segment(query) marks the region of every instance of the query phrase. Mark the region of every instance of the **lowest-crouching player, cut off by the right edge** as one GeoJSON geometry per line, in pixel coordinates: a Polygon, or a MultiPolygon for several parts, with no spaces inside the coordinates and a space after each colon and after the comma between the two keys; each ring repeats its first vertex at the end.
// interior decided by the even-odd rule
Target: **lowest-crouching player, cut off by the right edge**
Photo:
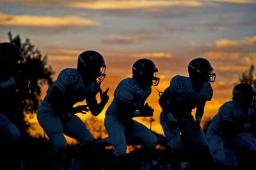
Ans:
{"type": "MultiPolygon", "coordinates": [[[[225,149],[229,148],[235,151],[233,154],[237,152],[250,155],[245,162],[239,162],[237,157],[242,169],[255,169],[255,109],[255,89],[246,83],[234,86],[232,100],[221,105],[207,129],[206,137],[216,166],[230,164],[227,159],[234,155],[227,155],[225,149]]],[[[234,163],[236,165],[237,162],[234,163]]]]}

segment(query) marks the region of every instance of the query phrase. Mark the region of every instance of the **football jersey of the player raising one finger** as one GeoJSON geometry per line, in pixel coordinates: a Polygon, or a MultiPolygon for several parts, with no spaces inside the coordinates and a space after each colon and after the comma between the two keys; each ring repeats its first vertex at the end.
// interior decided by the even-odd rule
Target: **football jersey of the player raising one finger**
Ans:
{"type": "Polygon", "coordinates": [[[58,88],[65,93],[69,99],[70,105],[82,102],[86,97],[95,97],[100,91],[97,82],[91,82],[89,86],[85,86],[82,75],[76,68],[65,68],[60,72],[57,80],[47,90],[47,95],[42,104],[49,102],[49,97],[51,96],[49,94],[54,86],[58,86],[58,88]]]}

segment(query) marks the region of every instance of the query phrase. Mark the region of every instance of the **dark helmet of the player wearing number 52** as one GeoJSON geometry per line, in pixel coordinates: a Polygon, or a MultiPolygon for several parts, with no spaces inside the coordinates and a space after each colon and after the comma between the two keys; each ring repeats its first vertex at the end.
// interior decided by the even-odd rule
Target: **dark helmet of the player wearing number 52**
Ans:
{"type": "Polygon", "coordinates": [[[195,58],[188,65],[189,77],[198,81],[214,82],[216,74],[212,71],[211,63],[205,58],[195,58]]]}

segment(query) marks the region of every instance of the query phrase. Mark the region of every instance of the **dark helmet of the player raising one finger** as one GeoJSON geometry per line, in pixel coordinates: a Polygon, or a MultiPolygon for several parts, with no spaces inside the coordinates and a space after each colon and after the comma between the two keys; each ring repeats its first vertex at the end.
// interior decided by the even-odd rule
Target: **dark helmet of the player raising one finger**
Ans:
{"type": "Polygon", "coordinates": [[[79,54],[77,70],[86,81],[102,82],[106,77],[106,64],[103,56],[94,50],[86,50],[79,54]]]}

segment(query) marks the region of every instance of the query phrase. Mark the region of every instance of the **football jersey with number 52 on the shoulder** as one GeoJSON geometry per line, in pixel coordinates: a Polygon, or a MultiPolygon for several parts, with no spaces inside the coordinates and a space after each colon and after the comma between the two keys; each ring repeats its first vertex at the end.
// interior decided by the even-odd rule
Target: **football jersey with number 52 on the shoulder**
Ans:
{"type": "Polygon", "coordinates": [[[170,111],[180,118],[191,114],[192,109],[202,101],[210,101],[212,98],[212,87],[210,82],[205,82],[199,91],[195,91],[189,77],[175,75],[168,87],[172,97],[168,101],[170,111]]]}

